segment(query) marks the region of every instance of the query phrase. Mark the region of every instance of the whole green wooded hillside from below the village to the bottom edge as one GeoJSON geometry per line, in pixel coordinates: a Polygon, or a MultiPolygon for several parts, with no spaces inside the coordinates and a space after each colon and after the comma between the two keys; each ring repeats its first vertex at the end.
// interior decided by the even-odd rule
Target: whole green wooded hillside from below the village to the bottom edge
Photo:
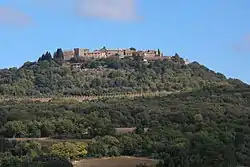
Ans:
{"type": "Polygon", "coordinates": [[[51,146],[1,139],[5,143],[0,149],[1,165],[48,163],[54,167],[63,163],[72,167],[68,159],[139,156],[161,160],[157,167],[250,166],[249,85],[197,62],[186,65],[178,56],[163,61],[133,57],[78,63],[85,68],[40,59],[20,69],[1,70],[1,93],[180,92],[83,102],[60,98],[48,103],[1,101],[0,135],[5,139],[68,140],[51,146]],[[133,127],[131,133],[116,133],[116,128],[133,127]]]}

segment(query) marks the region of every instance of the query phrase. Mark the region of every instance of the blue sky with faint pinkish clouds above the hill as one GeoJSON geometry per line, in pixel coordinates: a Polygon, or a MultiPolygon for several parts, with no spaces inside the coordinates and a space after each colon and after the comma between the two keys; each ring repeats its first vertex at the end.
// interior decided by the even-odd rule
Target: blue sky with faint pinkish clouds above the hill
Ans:
{"type": "Polygon", "coordinates": [[[250,83],[249,9],[249,0],[0,0],[0,68],[57,48],[159,48],[250,83]]]}

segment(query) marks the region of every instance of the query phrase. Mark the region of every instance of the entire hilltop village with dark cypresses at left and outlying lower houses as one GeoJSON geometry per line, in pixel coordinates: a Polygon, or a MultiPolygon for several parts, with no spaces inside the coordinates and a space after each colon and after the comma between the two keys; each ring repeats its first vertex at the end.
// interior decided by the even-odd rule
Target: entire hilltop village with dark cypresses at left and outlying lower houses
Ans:
{"type": "MultiPolygon", "coordinates": [[[[141,57],[143,62],[148,63],[148,61],[155,61],[155,60],[173,60],[175,57],[180,56],[175,53],[173,56],[164,56],[164,54],[159,50],[136,50],[135,48],[129,49],[106,49],[105,47],[101,49],[96,49],[94,51],[90,51],[90,49],[86,48],[74,48],[71,50],[63,50],[57,49],[54,52],[53,58],[56,61],[62,62],[63,66],[71,66],[74,69],[84,69],[86,68],[85,60],[98,60],[98,59],[106,59],[106,58],[114,58],[114,59],[134,59],[135,57],[141,57]]],[[[49,52],[43,54],[38,61],[41,60],[49,60],[52,59],[52,56],[49,52]]],[[[187,59],[182,59],[184,64],[189,64],[190,61],[187,59]]],[[[102,69],[102,66],[96,67],[96,69],[102,69]]]]}

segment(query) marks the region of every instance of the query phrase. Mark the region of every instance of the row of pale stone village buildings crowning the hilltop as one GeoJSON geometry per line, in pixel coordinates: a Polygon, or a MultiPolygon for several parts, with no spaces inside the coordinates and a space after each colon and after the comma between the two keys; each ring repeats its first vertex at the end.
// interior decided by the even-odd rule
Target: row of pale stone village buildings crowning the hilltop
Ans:
{"type": "Polygon", "coordinates": [[[133,54],[140,55],[147,60],[168,59],[171,56],[163,56],[159,50],[143,50],[136,51],[134,48],[130,49],[106,49],[105,47],[99,50],[90,51],[84,48],[74,48],[73,50],[64,50],[64,60],[68,61],[74,57],[80,58],[107,58],[118,55],[121,58],[132,56],[133,54]]]}

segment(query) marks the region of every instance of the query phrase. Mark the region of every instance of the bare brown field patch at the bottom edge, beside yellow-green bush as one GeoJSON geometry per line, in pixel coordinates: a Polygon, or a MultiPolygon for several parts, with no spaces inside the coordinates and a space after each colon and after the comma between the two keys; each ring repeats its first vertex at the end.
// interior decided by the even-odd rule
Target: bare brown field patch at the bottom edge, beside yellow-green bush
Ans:
{"type": "Polygon", "coordinates": [[[140,163],[145,163],[149,167],[155,167],[158,161],[136,157],[86,159],[75,162],[74,167],[136,167],[140,163]]]}

